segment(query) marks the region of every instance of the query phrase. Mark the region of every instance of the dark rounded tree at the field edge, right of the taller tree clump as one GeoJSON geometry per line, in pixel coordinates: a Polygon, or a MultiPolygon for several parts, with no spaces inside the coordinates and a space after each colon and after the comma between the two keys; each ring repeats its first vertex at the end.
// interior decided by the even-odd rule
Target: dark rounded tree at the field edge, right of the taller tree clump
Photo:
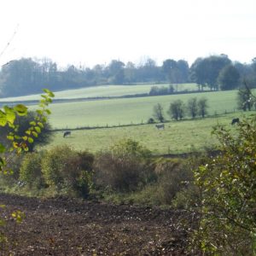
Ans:
{"type": "Polygon", "coordinates": [[[218,84],[221,90],[236,89],[240,82],[240,74],[233,65],[225,66],[218,74],[218,84]]]}

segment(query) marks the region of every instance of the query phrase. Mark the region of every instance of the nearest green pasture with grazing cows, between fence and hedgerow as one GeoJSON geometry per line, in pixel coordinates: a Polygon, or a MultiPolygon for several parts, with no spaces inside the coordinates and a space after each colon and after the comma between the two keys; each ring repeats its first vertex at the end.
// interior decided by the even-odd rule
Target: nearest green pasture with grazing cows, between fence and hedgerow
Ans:
{"type": "Polygon", "coordinates": [[[67,144],[75,149],[97,152],[108,149],[110,145],[123,138],[131,138],[142,143],[154,154],[200,151],[217,143],[216,137],[211,135],[213,126],[224,125],[235,131],[236,126],[230,125],[230,120],[237,116],[242,117],[242,113],[231,113],[216,118],[172,121],[166,123],[165,130],[157,130],[154,125],[133,125],[76,130],[72,131],[71,137],[66,138],[63,138],[63,132],[56,131],[52,143],[46,148],[67,144]]]}

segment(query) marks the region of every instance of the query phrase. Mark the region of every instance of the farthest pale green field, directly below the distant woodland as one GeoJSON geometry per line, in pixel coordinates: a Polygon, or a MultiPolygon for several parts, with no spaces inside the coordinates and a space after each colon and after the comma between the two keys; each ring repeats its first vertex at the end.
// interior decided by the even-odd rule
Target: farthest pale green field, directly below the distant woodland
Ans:
{"type": "MultiPolygon", "coordinates": [[[[125,96],[149,93],[152,86],[166,86],[169,84],[137,84],[137,85],[101,85],[75,90],[55,91],[55,99],[79,99],[88,97],[125,96]]],[[[177,84],[175,90],[198,90],[196,84],[177,84]]],[[[38,100],[40,94],[0,99],[0,102],[17,102],[38,100]]]]}

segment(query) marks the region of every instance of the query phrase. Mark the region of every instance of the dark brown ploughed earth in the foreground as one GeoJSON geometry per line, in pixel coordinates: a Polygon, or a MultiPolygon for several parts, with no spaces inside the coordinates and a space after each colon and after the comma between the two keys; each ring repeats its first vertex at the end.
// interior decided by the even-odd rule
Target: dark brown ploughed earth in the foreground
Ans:
{"type": "MultiPolygon", "coordinates": [[[[3,216],[21,210],[21,224],[7,219],[3,255],[184,255],[183,212],[58,197],[0,194],[3,216]]],[[[1,251],[0,251],[1,254],[1,251]]]]}

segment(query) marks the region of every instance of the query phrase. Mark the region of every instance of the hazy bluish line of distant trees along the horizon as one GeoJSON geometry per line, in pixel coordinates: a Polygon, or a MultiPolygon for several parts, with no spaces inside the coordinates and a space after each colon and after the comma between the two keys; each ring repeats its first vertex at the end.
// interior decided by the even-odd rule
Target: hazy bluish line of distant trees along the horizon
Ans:
{"type": "Polygon", "coordinates": [[[73,65],[60,68],[46,58],[22,58],[3,65],[0,96],[38,93],[45,86],[49,90],[67,90],[100,84],[193,82],[199,90],[232,90],[238,88],[243,79],[247,79],[251,87],[256,86],[256,58],[246,64],[231,61],[227,55],[211,55],[197,58],[190,67],[184,60],[167,59],[161,66],[150,58],[139,65],[112,60],[108,65],[98,64],[92,68],[73,65]]]}

